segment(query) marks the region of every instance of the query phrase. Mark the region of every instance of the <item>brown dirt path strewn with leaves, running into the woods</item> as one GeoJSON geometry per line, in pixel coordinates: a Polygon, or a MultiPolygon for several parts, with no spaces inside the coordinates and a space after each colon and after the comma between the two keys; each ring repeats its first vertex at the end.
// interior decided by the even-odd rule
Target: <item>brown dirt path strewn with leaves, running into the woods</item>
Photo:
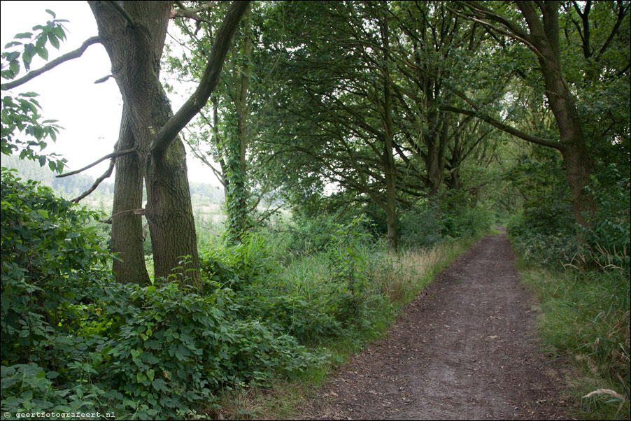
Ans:
{"type": "Polygon", "coordinates": [[[486,236],[307,403],[306,420],[555,420],[558,364],[537,348],[504,235],[486,236]]]}

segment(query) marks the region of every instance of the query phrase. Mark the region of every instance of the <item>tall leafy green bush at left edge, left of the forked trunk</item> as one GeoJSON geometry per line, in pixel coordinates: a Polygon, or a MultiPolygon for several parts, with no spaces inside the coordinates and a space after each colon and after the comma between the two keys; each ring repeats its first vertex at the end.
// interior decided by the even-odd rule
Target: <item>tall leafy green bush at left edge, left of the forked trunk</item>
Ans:
{"type": "Polygon", "coordinates": [[[22,184],[3,169],[3,355],[26,357],[31,344],[48,340],[55,324],[76,319],[77,288],[91,276],[104,276],[110,258],[97,236],[98,219],[99,214],[55,197],[50,188],[22,184]]]}

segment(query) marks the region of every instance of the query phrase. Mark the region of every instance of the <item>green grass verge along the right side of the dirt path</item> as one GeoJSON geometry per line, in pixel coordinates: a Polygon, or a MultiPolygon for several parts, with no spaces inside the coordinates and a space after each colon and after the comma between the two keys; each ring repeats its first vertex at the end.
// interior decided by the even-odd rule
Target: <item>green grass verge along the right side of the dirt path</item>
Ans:
{"type": "Polygon", "coordinates": [[[541,306],[546,347],[574,367],[568,393],[580,402],[576,417],[630,418],[629,275],[622,269],[565,272],[518,263],[521,278],[541,306]]]}

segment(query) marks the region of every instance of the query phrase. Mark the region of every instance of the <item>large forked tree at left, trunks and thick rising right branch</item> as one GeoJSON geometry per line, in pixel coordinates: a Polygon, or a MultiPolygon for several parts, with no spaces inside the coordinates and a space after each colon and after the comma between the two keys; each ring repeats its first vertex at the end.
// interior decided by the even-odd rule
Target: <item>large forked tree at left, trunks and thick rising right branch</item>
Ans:
{"type": "MultiPolygon", "coordinates": [[[[218,83],[232,35],[247,1],[235,1],[218,29],[197,90],[173,115],[162,83],[160,63],[169,19],[178,15],[171,3],[90,1],[99,38],[112,63],[124,101],[116,151],[133,150],[118,161],[112,217],[113,251],[123,262],[115,265],[123,282],[147,283],[142,248],[141,214],[153,245],[155,276],[170,276],[173,268],[187,272],[180,281],[201,287],[197,238],[187,180],[185,150],[178,132],[206,104],[218,83]],[[141,209],[142,181],[147,205],[141,209]],[[188,256],[181,264],[180,259],[188,256]],[[189,271],[189,269],[191,269],[189,271]]],[[[190,10],[188,10],[190,12],[190,10]]],[[[186,10],[184,15],[190,15],[186,10]]]]}

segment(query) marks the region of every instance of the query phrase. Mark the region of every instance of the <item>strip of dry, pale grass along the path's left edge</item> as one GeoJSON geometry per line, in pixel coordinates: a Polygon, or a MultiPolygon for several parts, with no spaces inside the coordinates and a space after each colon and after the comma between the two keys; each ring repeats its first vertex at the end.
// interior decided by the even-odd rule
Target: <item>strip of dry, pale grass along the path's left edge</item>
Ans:
{"type": "Polygon", "coordinates": [[[461,238],[441,243],[431,249],[406,250],[399,254],[385,252],[376,256],[371,270],[371,283],[388,298],[391,306],[387,311],[374,312],[372,329],[353,331],[343,337],[315,343],[331,355],[331,363],[314,367],[299,378],[276,380],[270,387],[250,387],[226,392],[218,406],[206,415],[219,420],[291,420],[301,404],[320,390],[325,380],[343,362],[376,340],[390,327],[397,314],[434,280],[458,255],[467,250],[481,237],[461,238]],[[392,311],[392,307],[394,311],[392,311]]]}

